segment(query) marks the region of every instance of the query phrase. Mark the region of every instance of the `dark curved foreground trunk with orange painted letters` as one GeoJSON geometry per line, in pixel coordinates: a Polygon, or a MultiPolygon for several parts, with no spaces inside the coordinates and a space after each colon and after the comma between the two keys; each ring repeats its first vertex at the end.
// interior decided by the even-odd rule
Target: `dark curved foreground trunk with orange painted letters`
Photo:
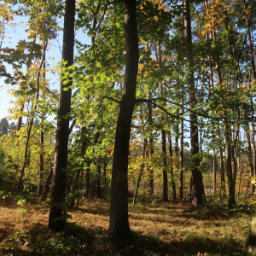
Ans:
{"type": "Polygon", "coordinates": [[[139,59],[136,3],[136,0],[125,0],[125,80],[122,99],[119,102],[119,117],[113,149],[109,235],[121,240],[132,236],[128,221],[127,172],[139,59]]]}

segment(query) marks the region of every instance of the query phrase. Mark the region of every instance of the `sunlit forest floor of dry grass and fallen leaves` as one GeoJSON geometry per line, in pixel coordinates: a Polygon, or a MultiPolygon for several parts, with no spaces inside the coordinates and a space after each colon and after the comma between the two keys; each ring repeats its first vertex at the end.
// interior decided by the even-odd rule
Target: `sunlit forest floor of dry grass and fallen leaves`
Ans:
{"type": "Polygon", "coordinates": [[[243,200],[229,211],[207,200],[197,209],[189,200],[129,204],[134,242],[121,248],[108,238],[108,201],[81,201],[55,233],[47,229],[48,204],[9,196],[0,200],[0,255],[241,255],[254,204],[243,200]]]}

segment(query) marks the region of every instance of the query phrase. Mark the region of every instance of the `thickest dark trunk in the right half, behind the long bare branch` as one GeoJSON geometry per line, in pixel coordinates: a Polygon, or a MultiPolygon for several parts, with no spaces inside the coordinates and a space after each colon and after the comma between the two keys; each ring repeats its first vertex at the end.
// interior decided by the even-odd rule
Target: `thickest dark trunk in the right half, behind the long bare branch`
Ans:
{"type": "MultiPolygon", "coordinates": [[[[194,70],[191,64],[192,62],[192,34],[191,34],[191,20],[190,20],[190,7],[189,0],[184,1],[184,26],[186,30],[187,39],[187,65],[188,65],[188,86],[189,86],[189,109],[193,110],[196,106],[195,98],[195,80],[194,70]]],[[[197,128],[197,116],[195,113],[189,113],[190,119],[190,141],[191,141],[191,156],[192,156],[192,191],[191,200],[194,207],[198,207],[203,204],[202,197],[202,175],[198,166],[200,166],[199,160],[199,141],[198,141],[198,128],[197,128]]]]}

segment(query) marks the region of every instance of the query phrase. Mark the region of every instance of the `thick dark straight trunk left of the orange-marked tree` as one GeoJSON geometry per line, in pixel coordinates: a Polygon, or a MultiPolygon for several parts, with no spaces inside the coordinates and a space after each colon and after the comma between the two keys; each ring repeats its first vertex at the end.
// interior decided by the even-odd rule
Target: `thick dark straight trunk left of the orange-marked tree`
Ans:
{"type": "MultiPolygon", "coordinates": [[[[66,0],[63,30],[62,60],[65,67],[73,65],[75,0],[66,0]]],[[[66,227],[66,212],[61,203],[65,201],[67,177],[67,147],[69,135],[69,118],[71,108],[71,89],[64,90],[73,84],[72,78],[61,80],[61,91],[55,136],[55,160],[51,189],[52,204],[49,208],[49,229],[63,230],[66,227]],[[64,212],[64,214],[63,214],[64,212]]]]}

